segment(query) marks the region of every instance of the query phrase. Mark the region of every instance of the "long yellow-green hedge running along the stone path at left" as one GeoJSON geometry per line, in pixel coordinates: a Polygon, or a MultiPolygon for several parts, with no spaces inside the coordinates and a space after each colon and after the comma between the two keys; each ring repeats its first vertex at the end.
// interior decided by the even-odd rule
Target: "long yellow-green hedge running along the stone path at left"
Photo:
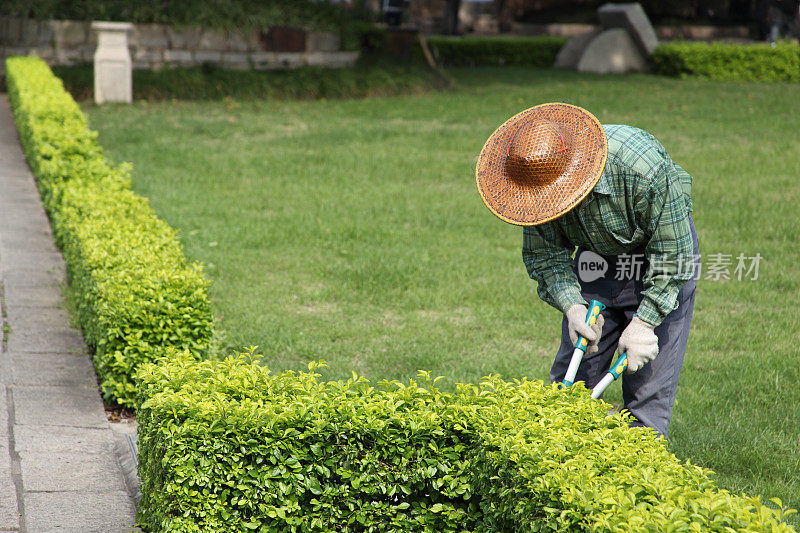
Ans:
{"type": "Polygon", "coordinates": [[[203,355],[208,281],[175,232],[130,190],[129,167],[104,159],[97,134],[48,66],[6,61],[20,140],[36,176],[103,397],[133,406],[136,368],[174,346],[203,355]]]}

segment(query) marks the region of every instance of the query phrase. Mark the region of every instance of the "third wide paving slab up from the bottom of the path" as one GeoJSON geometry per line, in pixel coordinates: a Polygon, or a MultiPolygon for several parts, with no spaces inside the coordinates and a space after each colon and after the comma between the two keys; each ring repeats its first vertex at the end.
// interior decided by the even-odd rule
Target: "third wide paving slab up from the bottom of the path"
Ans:
{"type": "Polygon", "coordinates": [[[112,433],[106,429],[69,426],[14,426],[17,452],[101,453],[114,449],[112,433]]]}

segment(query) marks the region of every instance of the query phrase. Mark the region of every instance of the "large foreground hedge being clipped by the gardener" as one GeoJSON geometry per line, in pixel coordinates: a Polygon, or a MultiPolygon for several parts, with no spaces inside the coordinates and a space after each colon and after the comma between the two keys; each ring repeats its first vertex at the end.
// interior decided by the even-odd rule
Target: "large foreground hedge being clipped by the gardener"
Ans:
{"type": "Polygon", "coordinates": [[[139,371],[148,530],[793,531],[581,386],[321,382],[257,357],[139,371]]]}

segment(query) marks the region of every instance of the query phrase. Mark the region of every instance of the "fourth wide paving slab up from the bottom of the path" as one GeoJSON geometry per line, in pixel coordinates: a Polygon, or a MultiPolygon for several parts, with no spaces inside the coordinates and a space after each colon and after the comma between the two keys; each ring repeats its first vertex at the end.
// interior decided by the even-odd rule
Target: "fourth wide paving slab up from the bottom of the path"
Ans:
{"type": "Polygon", "coordinates": [[[14,422],[37,426],[107,428],[96,387],[13,385],[14,422]]]}

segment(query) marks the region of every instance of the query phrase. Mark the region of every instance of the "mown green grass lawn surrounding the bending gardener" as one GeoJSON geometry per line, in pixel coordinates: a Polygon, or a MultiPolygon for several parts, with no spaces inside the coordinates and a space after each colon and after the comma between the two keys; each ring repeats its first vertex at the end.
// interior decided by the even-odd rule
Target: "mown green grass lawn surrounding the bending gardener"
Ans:
{"type": "Polygon", "coordinates": [[[548,101],[652,132],[695,178],[706,265],[763,257],[755,281],[698,285],[671,449],[725,488],[800,506],[800,85],[451,74],[457,90],[423,96],[85,110],[206,264],[229,347],[258,345],[274,369],[325,359],[329,378],[426,369],[451,384],[546,379],[560,333],[521,230],[475,189],[489,134],[548,101]]]}

